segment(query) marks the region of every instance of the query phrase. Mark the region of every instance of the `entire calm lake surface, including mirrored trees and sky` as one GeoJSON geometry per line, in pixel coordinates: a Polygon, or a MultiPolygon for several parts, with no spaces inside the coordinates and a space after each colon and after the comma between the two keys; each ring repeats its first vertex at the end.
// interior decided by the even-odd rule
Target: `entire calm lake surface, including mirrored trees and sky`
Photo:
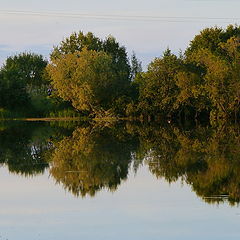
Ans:
{"type": "Polygon", "coordinates": [[[1,123],[0,239],[239,239],[238,127],[1,123]]]}

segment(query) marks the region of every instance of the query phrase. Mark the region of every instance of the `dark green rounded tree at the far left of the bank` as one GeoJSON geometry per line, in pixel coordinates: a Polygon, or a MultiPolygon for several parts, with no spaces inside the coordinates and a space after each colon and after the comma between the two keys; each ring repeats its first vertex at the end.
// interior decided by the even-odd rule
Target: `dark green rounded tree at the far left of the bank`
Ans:
{"type": "Polygon", "coordinates": [[[47,84],[47,61],[41,55],[21,53],[7,58],[0,70],[1,106],[11,109],[30,103],[30,97],[47,84]]]}

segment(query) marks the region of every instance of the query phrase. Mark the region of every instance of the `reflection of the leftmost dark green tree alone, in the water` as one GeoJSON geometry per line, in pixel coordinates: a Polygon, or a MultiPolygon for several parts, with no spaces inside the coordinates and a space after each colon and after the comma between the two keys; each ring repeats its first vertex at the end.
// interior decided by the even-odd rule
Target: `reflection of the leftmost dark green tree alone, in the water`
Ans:
{"type": "Polygon", "coordinates": [[[43,155],[48,149],[48,131],[33,124],[11,124],[0,131],[0,163],[10,172],[26,176],[41,174],[48,167],[43,155]]]}

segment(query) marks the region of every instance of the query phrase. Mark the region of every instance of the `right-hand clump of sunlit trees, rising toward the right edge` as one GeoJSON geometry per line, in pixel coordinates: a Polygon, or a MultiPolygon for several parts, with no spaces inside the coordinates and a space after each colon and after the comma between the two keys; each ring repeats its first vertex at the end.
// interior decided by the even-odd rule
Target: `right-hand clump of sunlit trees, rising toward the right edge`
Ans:
{"type": "MultiPolygon", "coordinates": [[[[138,114],[214,120],[239,116],[240,28],[207,28],[185,53],[167,50],[137,76],[138,114]]],[[[134,112],[133,110],[133,112],[134,112]]]]}

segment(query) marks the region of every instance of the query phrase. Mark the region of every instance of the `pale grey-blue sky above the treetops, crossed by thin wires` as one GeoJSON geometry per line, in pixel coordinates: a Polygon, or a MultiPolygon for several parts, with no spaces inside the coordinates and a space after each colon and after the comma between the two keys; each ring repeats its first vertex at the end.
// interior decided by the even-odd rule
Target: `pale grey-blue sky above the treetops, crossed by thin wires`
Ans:
{"type": "Polygon", "coordinates": [[[113,35],[144,66],[169,47],[178,53],[200,30],[240,21],[239,0],[0,0],[0,64],[31,51],[48,57],[75,31],[113,35]],[[73,14],[75,14],[73,16],[73,14]],[[83,17],[83,14],[85,16],[83,17]]]}

